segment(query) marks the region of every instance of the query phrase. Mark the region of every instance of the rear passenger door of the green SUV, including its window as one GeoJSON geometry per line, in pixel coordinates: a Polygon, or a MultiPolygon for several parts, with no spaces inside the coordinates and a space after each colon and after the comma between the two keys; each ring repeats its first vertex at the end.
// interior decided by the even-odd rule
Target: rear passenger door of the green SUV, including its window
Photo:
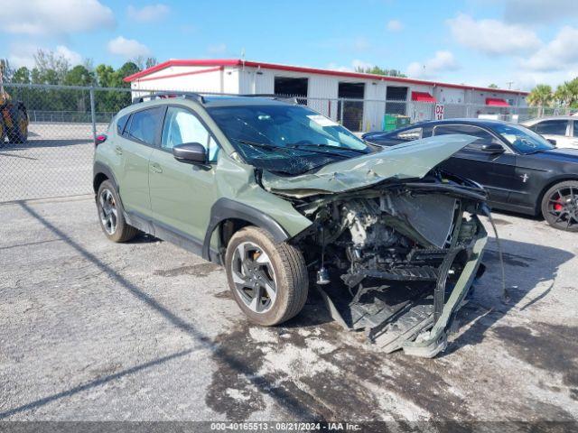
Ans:
{"type": "Polygon", "coordinates": [[[118,190],[128,212],[151,215],[148,188],[148,160],[160,141],[164,107],[135,111],[115,144],[123,161],[119,170],[118,190]]]}

